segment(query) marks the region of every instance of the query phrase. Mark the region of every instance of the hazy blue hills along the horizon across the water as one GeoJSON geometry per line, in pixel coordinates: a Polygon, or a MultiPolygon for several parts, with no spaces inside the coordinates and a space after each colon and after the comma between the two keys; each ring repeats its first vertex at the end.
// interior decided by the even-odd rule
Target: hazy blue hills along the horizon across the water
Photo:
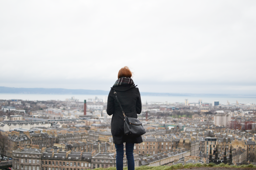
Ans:
{"type": "MultiPolygon", "coordinates": [[[[104,90],[84,90],[84,89],[60,89],[60,88],[14,88],[0,87],[0,93],[20,93],[20,94],[92,94],[108,95],[109,91],[104,90]]],[[[149,93],[141,92],[142,96],[218,96],[218,97],[255,97],[255,95],[235,95],[235,94],[192,94],[192,93],[149,93]]]]}

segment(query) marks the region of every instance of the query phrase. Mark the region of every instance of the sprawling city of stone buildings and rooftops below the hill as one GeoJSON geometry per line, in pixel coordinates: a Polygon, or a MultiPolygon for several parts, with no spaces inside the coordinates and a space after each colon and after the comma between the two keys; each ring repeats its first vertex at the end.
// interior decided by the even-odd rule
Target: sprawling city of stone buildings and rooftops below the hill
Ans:
{"type": "MultiPolygon", "coordinates": [[[[111,116],[103,99],[0,100],[0,167],[85,170],[115,167],[111,116]]],[[[146,133],[135,167],[256,161],[256,105],[218,101],[142,103],[146,133]]],[[[127,160],[124,158],[124,166],[127,160]]]]}

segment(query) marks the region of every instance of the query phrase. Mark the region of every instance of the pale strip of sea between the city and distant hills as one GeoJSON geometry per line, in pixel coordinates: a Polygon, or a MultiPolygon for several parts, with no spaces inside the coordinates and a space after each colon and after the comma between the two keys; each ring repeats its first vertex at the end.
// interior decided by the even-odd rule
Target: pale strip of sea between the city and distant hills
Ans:
{"type": "MultiPolygon", "coordinates": [[[[103,99],[104,102],[107,100],[107,95],[87,95],[87,94],[22,94],[22,93],[0,93],[0,100],[38,100],[38,101],[46,101],[46,100],[61,100],[65,101],[66,99],[70,99],[71,97],[75,97],[79,99],[80,102],[83,100],[93,99],[94,97],[98,97],[99,99],[103,99]]],[[[185,99],[188,99],[189,103],[198,102],[199,99],[202,100],[203,103],[212,103],[213,101],[219,101],[221,104],[226,104],[227,100],[229,103],[236,103],[236,100],[239,103],[247,104],[247,103],[256,103],[256,97],[227,97],[227,96],[149,96],[142,95],[142,103],[145,102],[159,102],[159,103],[184,103],[185,99]]]]}

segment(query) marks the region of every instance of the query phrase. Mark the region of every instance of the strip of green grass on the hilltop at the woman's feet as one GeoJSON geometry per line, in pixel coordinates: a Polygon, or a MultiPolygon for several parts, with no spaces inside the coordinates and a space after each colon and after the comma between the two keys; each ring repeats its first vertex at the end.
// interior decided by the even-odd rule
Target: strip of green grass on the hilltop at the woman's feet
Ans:
{"type": "MultiPolygon", "coordinates": [[[[232,167],[232,168],[256,168],[256,165],[249,164],[249,165],[228,165],[225,163],[220,163],[218,165],[215,165],[214,163],[188,163],[185,165],[182,165],[181,163],[177,165],[172,166],[157,166],[157,167],[148,167],[148,166],[141,166],[141,167],[135,167],[135,170],[177,170],[177,169],[183,169],[183,168],[193,168],[193,167],[232,167]]],[[[94,170],[116,170],[115,167],[109,167],[109,168],[96,168],[94,170]]],[[[127,167],[124,168],[124,170],[127,170],[127,167]]]]}

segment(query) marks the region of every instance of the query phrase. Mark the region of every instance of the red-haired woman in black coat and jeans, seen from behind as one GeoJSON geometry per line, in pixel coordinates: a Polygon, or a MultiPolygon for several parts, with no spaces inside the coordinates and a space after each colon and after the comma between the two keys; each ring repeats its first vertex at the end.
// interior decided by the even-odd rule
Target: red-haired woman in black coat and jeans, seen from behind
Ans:
{"type": "Polygon", "coordinates": [[[115,99],[114,90],[117,93],[118,100],[127,117],[137,118],[137,114],[142,111],[142,102],[138,88],[135,87],[131,79],[132,73],[128,67],[123,67],[118,72],[118,80],[111,87],[107,98],[107,114],[112,115],[111,133],[113,142],[117,150],[116,167],[117,170],[123,170],[124,142],[126,158],[128,161],[128,170],[134,170],[133,148],[134,143],[142,143],[142,137],[128,137],[124,133],[124,116],[121,108],[115,99]]]}

